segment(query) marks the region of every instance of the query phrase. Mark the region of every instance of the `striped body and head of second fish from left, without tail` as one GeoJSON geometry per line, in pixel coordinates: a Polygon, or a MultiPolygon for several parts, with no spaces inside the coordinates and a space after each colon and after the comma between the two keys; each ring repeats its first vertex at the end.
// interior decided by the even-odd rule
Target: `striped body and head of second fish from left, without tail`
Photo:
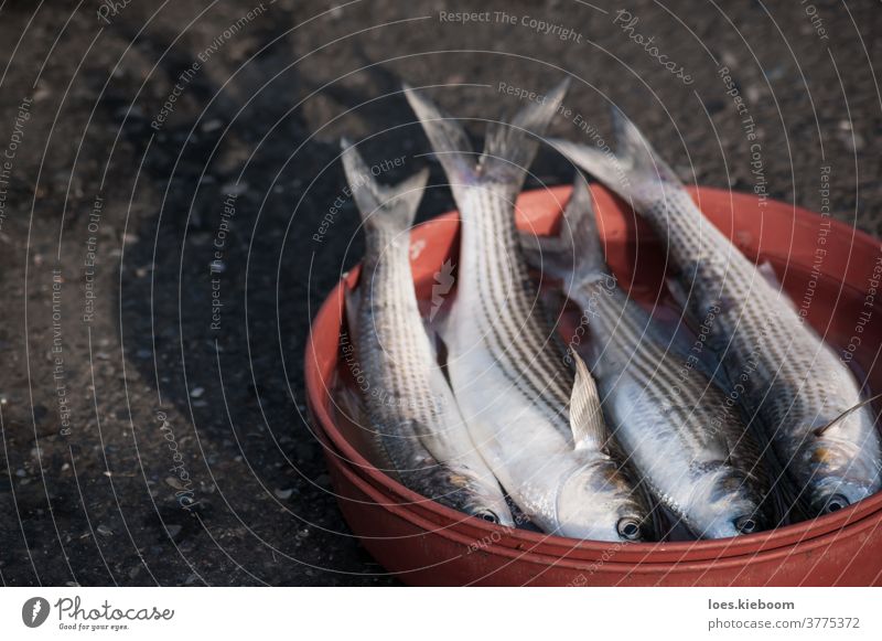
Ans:
{"type": "Polygon", "coordinates": [[[516,243],[509,201],[485,186],[460,196],[461,276],[444,338],[473,438],[542,530],[615,539],[617,523],[641,524],[646,511],[621,463],[596,446],[574,448],[576,378],[516,243]]]}

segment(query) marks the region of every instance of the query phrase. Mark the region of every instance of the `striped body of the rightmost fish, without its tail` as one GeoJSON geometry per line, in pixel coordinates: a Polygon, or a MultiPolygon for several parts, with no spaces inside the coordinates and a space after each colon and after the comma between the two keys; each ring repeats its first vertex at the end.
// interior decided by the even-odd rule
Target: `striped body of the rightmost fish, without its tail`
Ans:
{"type": "Polygon", "coordinates": [[[778,466],[807,490],[803,502],[817,512],[829,501],[829,493],[811,490],[822,481],[825,466],[835,468],[837,478],[863,479],[850,494],[845,487],[835,490],[847,493],[846,503],[876,491],[879,432],[869,410],[853,413],[825,439],[813,435],[860,403],[847,366],[685,191],[664,193],[646,217],[668,234],[691,316],[711,328],[708,345],[722,359],[733,394],[760,419],[778,466]]]}

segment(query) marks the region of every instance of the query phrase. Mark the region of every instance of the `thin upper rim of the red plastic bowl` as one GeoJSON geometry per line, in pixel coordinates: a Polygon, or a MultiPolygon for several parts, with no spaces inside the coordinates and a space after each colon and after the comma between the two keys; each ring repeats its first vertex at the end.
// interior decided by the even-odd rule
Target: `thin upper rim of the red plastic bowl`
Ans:
{"type": "MultiPolygon", "coordinates": [[[[591,185],[592,192],[595,196],[605,194],[606,199],[612,197],[610,193],[598,185],[591,185]]],[[[547,189],[533,190],[524,192],[517,202],[519,211],[530,210],[536,207],[551,209],[551,205],[560,209],[561,203],[567,202],[567,196],[571,188],[569,185],[559,185],[547,189]]],[[[741,194],[730,192],[729,190],[720,190],[716,188],[692,188],[689,189],[693,197],[704,201],[714,201],[724,199],[736,205],[739,201],[742,205],[755,205],[757,200],[752,194],[741,194]]],[[[766,200],[766,213],[784,213],[790,220],[792,224],[798,225],[799,220],[805,216],[818,218],[819,215],[797,207],[792,204],[783,203],[779,201],[766,200]]],[[[520,213],[519,213],[520,215],[520,213]]],[[[415,235],[419,235],[420,231],[430,229],[432,225],[440,223],[450,223],[456,221],[459,214],[448,212],[437,216],[415,228],[415,235]]],[[[880,244],[868,234],[852,228],[845,223],[829,220],[832,233],[830,238],[843,238],[841,234],[849,234],[850,247],[864,246],[867,249],[878,249],[880,244]]],[[[392,494],[390,503],[397,503],[406,510],[415,510],[416,512],[427,512],[435,516],[440,527],[449,526],[454,531],[460,528],[467,528],[476,531],[475,535],[471,537],[486,536],[494,532],[499,533],[499,543],[506,539],[512,541],[512,546],[516,547],[517,542],[520,544],[530,545],[535,549],[545,547],[553,547],[572,552],[584,552],[593,557],[595,553],[607,551],[614,543],[592,539],[577,539],[564,536],[557,536],[552,534],[542,534],[530,532],[527,530],[513,530],[486,523],[480,519],[467,516],[461,512],[447,508],[440,503],[428,500],[426,496],[409,490],[401,483],[397,482],[389,476],[376,469],[337,429],[329,408],[331,405],[330,387],[326,378],[336,371],[337,365],[337,338],[340,335],[340,327],[343,320],[343,282],[356,276],[357,269],[349,271],[347,276],[341,279],[341,282],[331,291],[329,297],[322,303],[319,313],[312,324],[310,338],[306,343],[306,351],[304,354],[304,374],[306,386],[306,399],[311,409],[314,423],[331,440],[333,448],[329,452],[330,456],[341,459],[342,464],[351,468],[352,471],[366,478],[375,487],[381,488],[392,494]],[[330,336],[329,336],[330,334],[330,336]],[[331,340],[333,336],[333,340],[331,340]],[[327,350],[327,343],[332,345],[333,354],[324,355],[322,349],[327,350]],[[319,349],[316,351],[316,344],[319,349]]],[[[845,282],[851,287],[856,287],[863,291],[863,284],[851,282],[846,277],[845,282]]],[[[324,445],[324,444],[323,444],[324,445]]],[[[742,556],[745,554],[766,552],[779,547],[792,546],[796,543],[805,542],[808,538],[817,538],[829,534],[843,534],[840,531],[843,528],[851,528],[860,525],[867,516],[874,512],[882,510],[882,492],[878,492],[853,505],[839,510],[836,513],[827,514],[809,521],[783,525],[774,530],[760,532],[756,534],[747,534],[734,538],[719,538],[719,539],[701,539],[701,541],[686,541],[686,542],[647,542],[647,543],[628,543],[625,547],[619,551],[620,558],[627,554],[628,557],[645,557],[642,563],[653,563],[653,556],[663,556],[666,560],[659,563],[669,563],[673,557],[676,557],[680,563],[699,562],[708,559],[722,559],[742,556]]],[[[424,515],[420,515],[424,519],[424,515]]],[[[538,553],[542,554],[542,553],[538,553]]]]}

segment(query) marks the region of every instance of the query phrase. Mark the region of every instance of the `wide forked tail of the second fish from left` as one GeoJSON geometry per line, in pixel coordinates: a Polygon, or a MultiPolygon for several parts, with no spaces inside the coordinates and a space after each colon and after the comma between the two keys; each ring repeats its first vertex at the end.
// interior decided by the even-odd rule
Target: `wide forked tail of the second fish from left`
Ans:
{"type": "Polygon", "coordinates": [[[454,197],[469,186],[496,188],[514,200],[520,192],[548,124],[569,87],[569,78],[551,89],[541,103],[530,103],[510,122],[492,122],[484,152],[477,157],[458,119],[445,115],[420,92],[405,85],[405,94],[451,180],[454,197]]]}

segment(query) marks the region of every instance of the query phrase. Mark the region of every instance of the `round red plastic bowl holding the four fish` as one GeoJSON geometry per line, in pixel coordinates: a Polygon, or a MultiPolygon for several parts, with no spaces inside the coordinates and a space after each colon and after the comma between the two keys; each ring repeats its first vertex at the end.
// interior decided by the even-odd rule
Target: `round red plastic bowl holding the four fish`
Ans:
{"type": "MultiPolygon", "coordinates": [[[[517,224],[537,234],[556,232],[570,188],[526,192],[517,224]]],[[[607,261],[633,291],[654,299],[660,291],[665,253],[659,241],[622,201],[592,185],[607,261]],[[637,267],[635,271],[635,267],[637,267]]],[[[880,244],[848,225],[784,203],[699,189],[701,210],[751,258],[770,260],[796,301],[814,292],[811,324],[833,343],[854,351],[870,385],[882,387],[872,367],[882,345],[882,305],[865,293],[880,244]],[[819,245],[819,231],[825,244],[819,245]],[[816,250],[826,249],[811,278],[816,250]],[[809,284],[809,281],[814,281],[809,284]],[[864,303],[871,321],[854,328],[864,303]]],[[[432,277],[458,253],[459,220],[445,214],[411,236],[418,296],[428,300],[432,277]]],[[[882,263],[880,263],[882,265],[882,263]]],[[[346,279],[357,280],[357,270],[346,279]]],[[[874,286],[873,286],[874,287],[874,286]]],[[[878,298],[878,297],[876,297],[878,298]]],[[[361,453],[358,429],[334,410],[333,385],[341,366],[338,335],[342,285],[313,323],[305,354],[306,393],[313,425],[325,445],[338,502],[353,532],[388,570],[413,585],[880,585],[882,494],[814,521],[729,539],[611,544],[509,530],[467,517],[429,501],[375,469],[361,453]]],[[[566,323],[564,323],[566,324],[566,323]]],[[[566,330],[564,330],[566,331],[566,330]]]]}

